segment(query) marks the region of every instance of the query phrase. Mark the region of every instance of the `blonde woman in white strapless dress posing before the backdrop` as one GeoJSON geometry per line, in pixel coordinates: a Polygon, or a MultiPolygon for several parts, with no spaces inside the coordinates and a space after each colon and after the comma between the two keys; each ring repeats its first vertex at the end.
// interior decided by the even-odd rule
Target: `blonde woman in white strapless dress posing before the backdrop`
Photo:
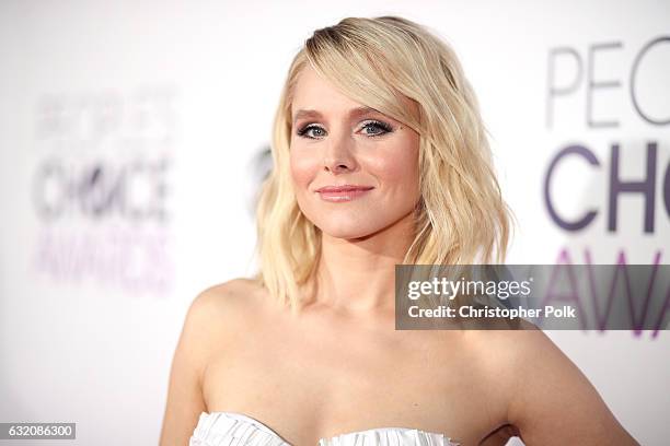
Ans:
{"type": "Polygon", "coordinates": [[[540,330],[394,329],[396,263],[501,260],[509,212],[452,50],[345,19],[296,56],[258,211],[261,271],[204,291],[161,445],[634,445],[540,330]]]}

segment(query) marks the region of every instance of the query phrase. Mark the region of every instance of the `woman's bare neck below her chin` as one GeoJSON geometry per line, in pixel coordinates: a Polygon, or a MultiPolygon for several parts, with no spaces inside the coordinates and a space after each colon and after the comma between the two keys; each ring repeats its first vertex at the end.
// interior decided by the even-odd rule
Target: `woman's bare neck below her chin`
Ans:
{"type": "Polygon", "coordinates": [[[414,214],[362,238],[322,233],[315,302],[348,314],[393,310],[395,265],[414,238],[414,214]]]}

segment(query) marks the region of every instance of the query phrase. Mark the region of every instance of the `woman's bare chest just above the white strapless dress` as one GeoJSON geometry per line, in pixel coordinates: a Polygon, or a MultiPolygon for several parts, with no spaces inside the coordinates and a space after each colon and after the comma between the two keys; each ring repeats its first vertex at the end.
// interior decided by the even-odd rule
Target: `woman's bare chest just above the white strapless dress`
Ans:
{"type": "Polygon", "coordinates": [[[247,334],[212,354],[203,379],[207,410],[252,415],[293,445],[378,427],[469,445],[504,422],[495,386],[467,349],[407,333],[247,334]]]}

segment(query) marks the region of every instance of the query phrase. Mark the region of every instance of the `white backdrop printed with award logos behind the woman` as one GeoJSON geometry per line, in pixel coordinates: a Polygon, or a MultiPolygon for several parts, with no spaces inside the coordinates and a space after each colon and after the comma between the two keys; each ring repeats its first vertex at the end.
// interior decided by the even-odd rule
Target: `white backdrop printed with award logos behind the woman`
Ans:
{"type": "MultiPolygon", "coordinates": [[[[314,28],[381,14],[461,57],[520,222],[510,263],[668,263],[667,1],[4,1],[0,421],[77,422],[63,445],[158,442],[188,304],[253,271],[257,155],[291,57],[314,28]],[[628,193],[609,230],[611,148],[642,180],[650,142],[654,227],[628,193]],[[566,221],[598,213],[566,231],[543,185],[575,144],[599,166],[562,159],[551,200],[566,221]]],[[[667,331],[548,334],[642,444],[667,444],[667,331]]]]}

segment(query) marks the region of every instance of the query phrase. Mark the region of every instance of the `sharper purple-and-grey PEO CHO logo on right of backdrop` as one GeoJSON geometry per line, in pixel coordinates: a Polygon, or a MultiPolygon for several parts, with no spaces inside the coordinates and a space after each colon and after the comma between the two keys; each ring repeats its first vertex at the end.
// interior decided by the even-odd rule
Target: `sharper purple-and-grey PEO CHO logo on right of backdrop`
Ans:
{"type": "Polygon", "coordinates": [[[668,79],[670,35],[550,48],[546,129],[561,142],[551,148],[544,204],[570,239],[588,231],[584,250],[565,247],[557,263],[629,265],[643,238],[656,246],[637,262],[661,263],[670,230],[668,79]],[[565,192],[581,180],[581,198],[565,192]],[[612,243],[619,253],[603,258],[612,243]]]}

